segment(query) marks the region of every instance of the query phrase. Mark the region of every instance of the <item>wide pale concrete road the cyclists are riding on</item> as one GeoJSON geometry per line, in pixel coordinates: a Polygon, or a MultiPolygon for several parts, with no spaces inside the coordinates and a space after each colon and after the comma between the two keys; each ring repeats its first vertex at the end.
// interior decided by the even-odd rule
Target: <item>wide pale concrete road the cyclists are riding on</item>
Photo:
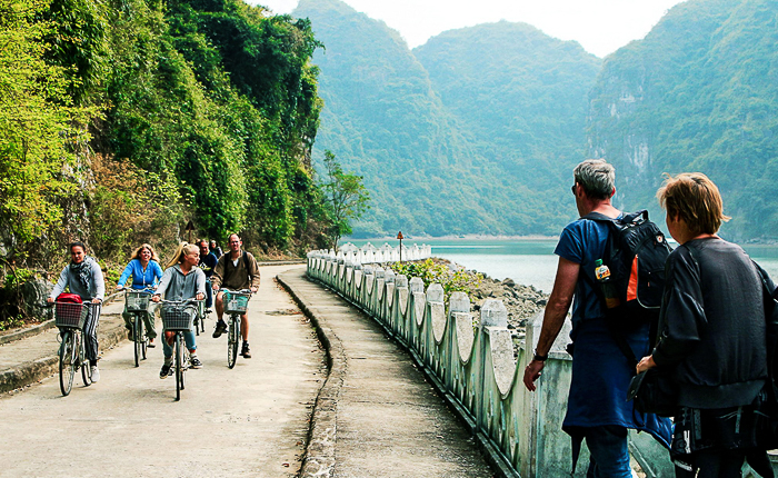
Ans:
{"type": "Polygon", "coordinates": [[[99,384],[77,377],[69,397],[54,376],[1,398],[0,476],[296,476],[323,355],[272,280],[292,268],[305,266],[261,268],[249,306],[253,358],[229,370],[226,338],[207,330],[205,368],[187,374],[180,402],[174,379],[159,379],[161,347],[134,368],[129,341],[103,353],[99,384]]]}

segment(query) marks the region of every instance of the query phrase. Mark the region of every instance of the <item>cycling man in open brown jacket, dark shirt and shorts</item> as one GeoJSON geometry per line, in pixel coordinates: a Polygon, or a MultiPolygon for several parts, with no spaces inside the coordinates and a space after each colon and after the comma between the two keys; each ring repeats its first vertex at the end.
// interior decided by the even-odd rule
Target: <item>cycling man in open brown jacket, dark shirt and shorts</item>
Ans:
{"type": "MultiPolygon", "coordinates": [[[[232,290],[251,289],[251,292],[256,292],[259,288],[259,267],[257,266],[257,259],[255,259],[251,252],[240,249],[243,242],[238,235],[230,235],[228,242],[230,250],[219,258],[219,262],[211,277],[213,290],[218,291],[219,288],[223,286],[232,290]]],[[[227,330],[227,323],[222,318],[225,315],[223,297],[225,292],[218,292],[216,296],[216,315],[219,317],[219,322],[213,331],[215,339],[221,337],[227,330]]],[[[243,358],[251,358],[251,350],[249,350],[248,315],[243,313],[241,319],[240,335],[243,338],[243,346],[240,349],[240,355],[243,358]]]]}

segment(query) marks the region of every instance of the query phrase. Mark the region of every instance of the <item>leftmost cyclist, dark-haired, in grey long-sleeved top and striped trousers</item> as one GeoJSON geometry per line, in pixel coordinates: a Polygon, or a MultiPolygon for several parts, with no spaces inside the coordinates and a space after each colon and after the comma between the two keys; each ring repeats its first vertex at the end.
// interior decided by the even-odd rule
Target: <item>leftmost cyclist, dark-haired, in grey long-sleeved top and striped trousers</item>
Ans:
{"type": "MultiPolygon", "coordinates": [[[[77,293],[84,302],[100,303],[106,295],[106,283],[102,278],[102,270],[97,261],[87,256],[87,247],[83,242],[70,243],[70,263],[64,266],[59,275],[59,280],[47,299],[49,302],[57,300],[57,297],[70,289],[71,293],[77,293]]],[[[99,313],[93,313],[94,309],[89,309],[89,316],[83,323],[83,338],[86,343],[86,356],[92,368],[92,381],[100,381],[100,370],[98,370],[98,341],[97,325],[99,313]]]]}

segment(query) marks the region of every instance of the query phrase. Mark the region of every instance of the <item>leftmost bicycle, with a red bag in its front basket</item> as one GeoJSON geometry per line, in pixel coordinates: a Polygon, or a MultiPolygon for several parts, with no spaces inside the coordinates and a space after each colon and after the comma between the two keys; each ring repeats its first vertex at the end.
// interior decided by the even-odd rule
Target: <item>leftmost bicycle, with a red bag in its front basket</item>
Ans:
{"type": "Polygon", "coordinates": [[[59,388],[67,397],[73,388],[73,377],[81,369],[83,386],[92,385],[92,368],[84,359],[83,325],[90,313],[100,318],[101,303],[51,302],[54,307],[54,325],[60,329],[59,388]]]}

